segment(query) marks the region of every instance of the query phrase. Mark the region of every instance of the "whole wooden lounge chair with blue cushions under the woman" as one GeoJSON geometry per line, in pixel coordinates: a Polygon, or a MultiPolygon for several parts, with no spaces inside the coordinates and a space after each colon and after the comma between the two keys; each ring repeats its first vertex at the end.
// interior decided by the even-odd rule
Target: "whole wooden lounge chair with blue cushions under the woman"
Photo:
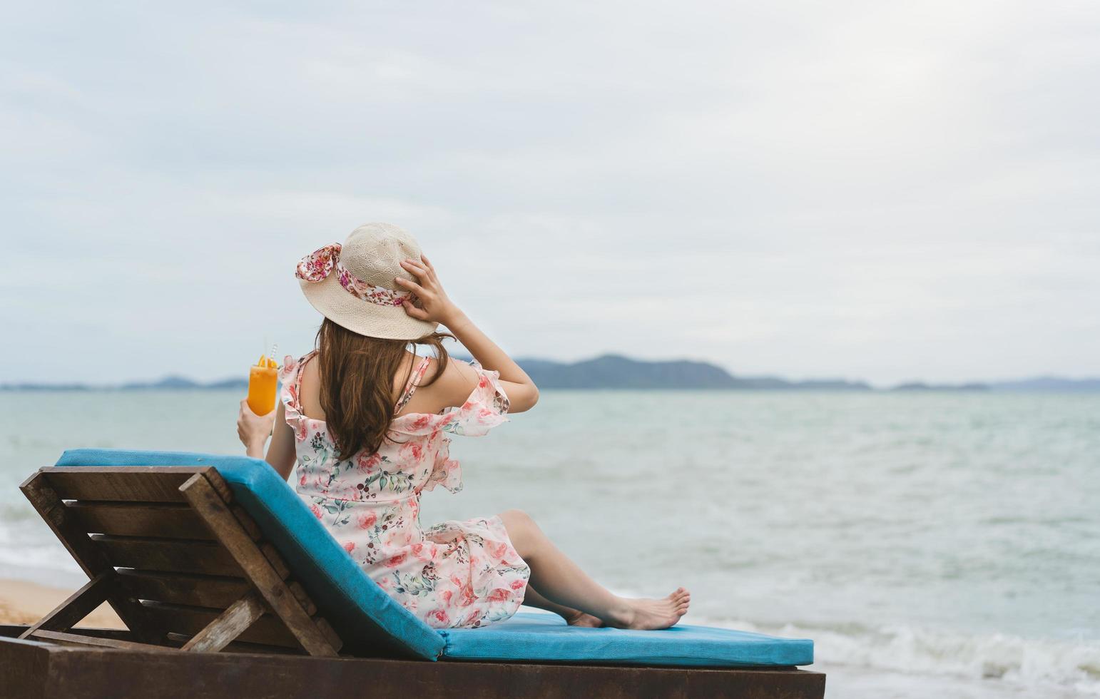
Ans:
{"type": "Polygon", "coordinates": [[[74,450],[22,486],[89,581],[0,629],[0,696],[820,699],[811,641],[576,629],[520,613],[433,630],[264,462],[74,450]],[[75,628],[108,602],[125,631],[75,628]],[[440,661],[440,662],[432,662],[440,661]]]}

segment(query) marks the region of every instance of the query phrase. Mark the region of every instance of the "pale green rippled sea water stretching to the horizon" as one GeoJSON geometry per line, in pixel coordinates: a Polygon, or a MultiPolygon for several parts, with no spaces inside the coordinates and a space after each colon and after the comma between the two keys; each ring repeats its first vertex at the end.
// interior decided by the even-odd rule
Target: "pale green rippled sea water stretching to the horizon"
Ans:
{"type": "MultiPolygon", "coordinates": [[[[76,446],[243,453],[233,391],[0,393],[0,577],[82,574],[16,486],[76,446]]],[[[688,623],[812,637],[828,696],[1100,696],[1100,395],[543,391],[426,524],[527,510],[688,623]]]]}

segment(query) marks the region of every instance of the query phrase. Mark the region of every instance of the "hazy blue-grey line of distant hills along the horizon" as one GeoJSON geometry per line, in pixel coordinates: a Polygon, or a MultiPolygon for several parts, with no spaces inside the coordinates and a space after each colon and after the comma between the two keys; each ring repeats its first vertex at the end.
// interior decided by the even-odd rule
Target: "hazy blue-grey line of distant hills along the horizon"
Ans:
{"type": "MultiPolygon", "coordinates": [[[[469,359],[455,355],[459,359],[469,359]]],[[[706,362],[686,359],[645,362],[608,354],[583,362],[517,359],[519,366],[546,389],[707,389],[707,390],[779,390],[779,391],[1100,391],[1100,378],[1068,379],[1044,376],[986,384],[908,382],[878,389],[860,380],[809,379],[790,380],[774,376],[735,376],[706,362]]],[[[133,381],[117,386],[89,384],[0,384],[0,391],[87,391],[87,390],[241,390],[248,389],[244,378],[200,382],[183,376],[166,376],[156,381],[133,381]]]]}

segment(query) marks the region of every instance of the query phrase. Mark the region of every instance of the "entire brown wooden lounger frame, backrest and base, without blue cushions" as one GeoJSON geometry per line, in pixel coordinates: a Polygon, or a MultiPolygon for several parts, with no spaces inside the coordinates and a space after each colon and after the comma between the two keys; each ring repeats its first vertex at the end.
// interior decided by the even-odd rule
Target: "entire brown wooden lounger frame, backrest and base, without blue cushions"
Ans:
{"type": "Polygon", "coordinates": [[[824,675],[795,668],[338,655],[340,637],[213,467],[51,467],[21,489],[90,579],[36,623],[0,624],[0,699],[396,698],[410,679],[425,699],[825,691],[824,675]],[[105,601],[127,631],[74,628],[105,601]]]}

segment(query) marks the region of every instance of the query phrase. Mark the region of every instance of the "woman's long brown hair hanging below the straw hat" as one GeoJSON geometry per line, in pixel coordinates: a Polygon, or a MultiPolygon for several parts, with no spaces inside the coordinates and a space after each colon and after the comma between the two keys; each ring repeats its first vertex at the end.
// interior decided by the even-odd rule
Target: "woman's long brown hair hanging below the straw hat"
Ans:
{"type": "MultiPolygon", "coordinates": [[[[416,341],[366,337],[324,319],[317,331],[317,362],[321,380],[321,410],[329,436],[341,461],[361,450],[371,453],[382,447],[389,422],[394,419],[394,377],[405,360],[410,342],[436,350],[436,373],[420,384],[428,386],[447,367],[443,339],[448,333],[431,333],[416,341]]],[[[405,375],[406,382],[415,365],[405,375]]]]}

